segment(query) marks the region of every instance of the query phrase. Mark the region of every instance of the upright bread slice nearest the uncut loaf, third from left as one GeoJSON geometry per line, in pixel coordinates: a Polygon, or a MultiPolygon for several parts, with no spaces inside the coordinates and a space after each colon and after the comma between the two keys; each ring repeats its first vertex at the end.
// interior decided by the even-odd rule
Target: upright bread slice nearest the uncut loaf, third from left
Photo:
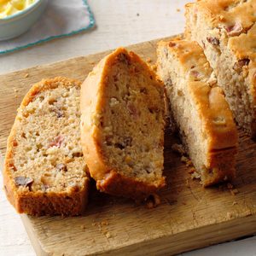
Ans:
{"type": "Polygon", "coordinates": [[[157,67],[183,144],[204,186],[235,177],[237,131],[223,90],[196,42],[160,42],[157,67]]]}

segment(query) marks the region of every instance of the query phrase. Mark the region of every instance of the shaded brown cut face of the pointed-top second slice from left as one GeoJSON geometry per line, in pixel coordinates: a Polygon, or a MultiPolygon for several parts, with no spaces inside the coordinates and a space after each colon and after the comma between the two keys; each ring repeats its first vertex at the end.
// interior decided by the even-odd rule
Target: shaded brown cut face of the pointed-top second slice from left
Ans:
{"type": "Polygon", "coordinates": [[[144,68],[125,53],[117,55],[97,121],[108,166],[126,177],[157,184],[163,167],[164,96],[160,83],[144,68]]]}

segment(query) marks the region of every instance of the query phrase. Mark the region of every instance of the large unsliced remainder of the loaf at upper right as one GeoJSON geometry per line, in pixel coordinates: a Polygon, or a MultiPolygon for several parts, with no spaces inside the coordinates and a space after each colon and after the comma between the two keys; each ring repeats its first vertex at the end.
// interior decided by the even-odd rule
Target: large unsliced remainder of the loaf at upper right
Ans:
{"type": "Polygon", "coordinates": [[[205,51],[237,124],[256,135],[256,1],[201,0],[186,5],[185,35],[205,51]]]}

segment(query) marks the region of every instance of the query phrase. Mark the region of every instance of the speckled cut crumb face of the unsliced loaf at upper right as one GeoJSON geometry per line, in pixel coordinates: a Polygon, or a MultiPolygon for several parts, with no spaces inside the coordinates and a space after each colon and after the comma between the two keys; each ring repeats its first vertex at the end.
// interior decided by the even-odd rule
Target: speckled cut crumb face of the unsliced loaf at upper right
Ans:
{"type": "MultiPolygon", "coordinates": [[[[234,3],[236,8],[249,4],[247,1],[235,2],[237,2],[234,3]]],[[[205,21],[205,15],[196,9],[195,4],[191,4],[189,7],[186,15],[186,35],[197,41],[204,49],[207,60],[217,75],[218,84],[224,90],[237,124],[249,134],[254,133],[253,130],[256,127],[254,89],[251,85],[253,82],[248,75],[249,67],[253,66],[253,56],[247,55],[246,47],[248,44],[252,45],[252,48],[255,45],[256,25],[253,24],[240,36],[239,34],[229,36],[224,24],[219,23],[218,27],[209,26],[205,21]],[[244,54],[240,57],[236,56],[237,49],[239,52],[245,49],[244,54]]],[[[232,9],[232,5],[230,5],[230,9],[232,9]]],[[[237,22],[239,23],[239,21],[237,22]]]]}

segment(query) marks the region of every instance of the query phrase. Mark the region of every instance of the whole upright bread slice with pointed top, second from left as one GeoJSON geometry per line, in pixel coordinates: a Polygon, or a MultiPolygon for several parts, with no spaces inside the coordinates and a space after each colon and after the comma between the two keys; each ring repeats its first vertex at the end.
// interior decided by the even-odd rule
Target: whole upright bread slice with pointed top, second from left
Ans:
{"type": "Polygon", "coordinates": [[[97,189],[140,200],[165,185],[163,99],[163,84],[126,49],[90,72],[81,89],[81,136],[97,189]]]}

